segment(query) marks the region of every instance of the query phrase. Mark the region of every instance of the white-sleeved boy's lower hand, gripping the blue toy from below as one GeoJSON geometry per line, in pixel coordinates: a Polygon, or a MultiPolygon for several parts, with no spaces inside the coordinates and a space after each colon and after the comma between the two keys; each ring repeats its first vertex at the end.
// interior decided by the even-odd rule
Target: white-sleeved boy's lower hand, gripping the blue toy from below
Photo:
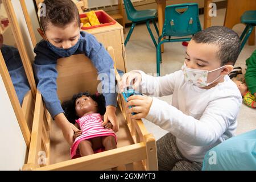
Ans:
{"type": "Polygon", "coordinates": [[[146,118],[152,104],[152,97],[131,96],[127,99],[127,113],[137,113],[131,116],[131,119],[146,118]],[[133,106],[129,109],[129,106],[133,106]]]}

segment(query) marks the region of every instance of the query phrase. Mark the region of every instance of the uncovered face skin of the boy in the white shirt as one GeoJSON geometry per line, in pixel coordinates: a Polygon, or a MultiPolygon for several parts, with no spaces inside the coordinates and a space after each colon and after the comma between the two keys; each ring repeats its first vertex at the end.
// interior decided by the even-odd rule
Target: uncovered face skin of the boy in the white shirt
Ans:
{"type": "MultiPolygon", "coordinates": [[[[219,47],[217,45],[196,43],[194,40],[191,40],[187,47],[185,63],[188,68],[192,69],[212,71],[220,68],[221,60],[217,55],[218,50],[219,47]]],[[[208,73],[207,82],[214,81],[221,75],[223,70],[224,68],[208,73]]]]}

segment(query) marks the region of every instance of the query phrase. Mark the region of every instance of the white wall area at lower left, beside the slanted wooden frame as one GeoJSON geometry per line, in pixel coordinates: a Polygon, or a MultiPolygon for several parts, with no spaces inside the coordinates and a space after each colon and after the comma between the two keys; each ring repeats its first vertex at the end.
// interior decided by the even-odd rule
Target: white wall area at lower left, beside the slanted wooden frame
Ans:
{"type": "Polygon", "coordinates": [[[0,100],[0,171],[16,171],[25,162],[27,146],[1,75],[0,100]]]}

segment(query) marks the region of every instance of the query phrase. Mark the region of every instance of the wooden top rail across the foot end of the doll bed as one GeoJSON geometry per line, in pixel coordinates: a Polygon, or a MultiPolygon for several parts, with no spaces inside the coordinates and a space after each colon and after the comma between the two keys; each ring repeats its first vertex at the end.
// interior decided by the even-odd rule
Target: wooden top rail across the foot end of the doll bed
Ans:
{"type": "Polygon", "coordinates": [[[36,170],[104,170],[146,159],[144,143],[132,144],[78,159],[52,164],[36,170]]]}

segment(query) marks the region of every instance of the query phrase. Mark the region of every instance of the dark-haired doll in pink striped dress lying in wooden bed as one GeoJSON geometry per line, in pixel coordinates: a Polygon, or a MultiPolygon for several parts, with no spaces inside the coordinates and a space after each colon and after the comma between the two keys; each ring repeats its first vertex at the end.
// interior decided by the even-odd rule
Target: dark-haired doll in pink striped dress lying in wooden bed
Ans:
{"type": "Polygon", "coordinates": [[[71,159],[117,148],[117,137],[112,124],[108,122],[105,127],[102,126],[101,115],[106,110],[102,94],[79,93],[61,106],[68,121],[78,129],[73,135],[71,159]]]}

